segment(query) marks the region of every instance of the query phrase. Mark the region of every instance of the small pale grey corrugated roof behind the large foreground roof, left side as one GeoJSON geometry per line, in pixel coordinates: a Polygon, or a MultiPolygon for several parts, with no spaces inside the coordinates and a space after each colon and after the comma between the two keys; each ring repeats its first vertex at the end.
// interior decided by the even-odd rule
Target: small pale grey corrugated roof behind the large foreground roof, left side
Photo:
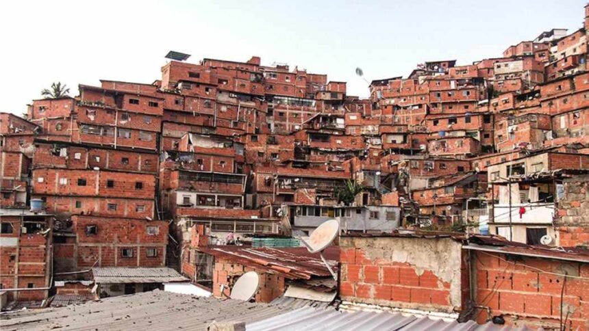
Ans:
{"type": "Polygon", "coordinates": [[[176,270],[168,267],[95,267],[92,268],[92,274],[95,282],[99,284],[186,282],[188,280],[176,270]]]}

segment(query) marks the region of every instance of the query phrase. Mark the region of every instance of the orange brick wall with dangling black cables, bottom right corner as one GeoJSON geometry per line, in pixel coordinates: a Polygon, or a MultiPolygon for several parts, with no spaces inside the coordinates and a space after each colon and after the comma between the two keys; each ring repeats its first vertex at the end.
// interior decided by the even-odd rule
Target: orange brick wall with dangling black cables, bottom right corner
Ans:
{"type": "Polygon", "coordinates": [[[560,328],[562,306],[566,330],[589,330],[588,263],[490,252],[473,252],[473,258],[473,300],[490,309],[490,316],[486,308],[477,309],[479,323],[501,315],[508,326],[554,330],[560,328]],[[565,273],[571,277],[559,276],[565,273]]]}

